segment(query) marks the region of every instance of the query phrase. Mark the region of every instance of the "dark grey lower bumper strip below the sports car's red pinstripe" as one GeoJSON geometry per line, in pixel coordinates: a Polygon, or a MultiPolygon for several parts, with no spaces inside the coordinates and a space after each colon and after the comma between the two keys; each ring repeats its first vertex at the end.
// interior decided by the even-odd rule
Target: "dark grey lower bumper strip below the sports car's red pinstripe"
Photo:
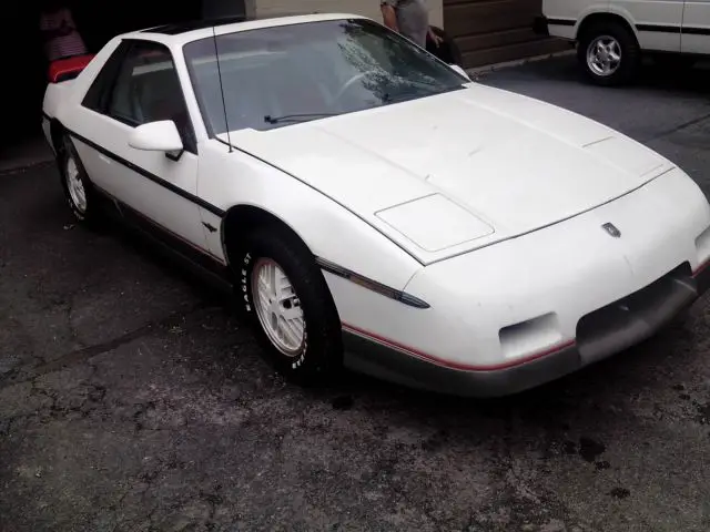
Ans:
{"type": "Polygon", "coordinates": [[[650,285],[584,316],[577,336],[507,367],[463,370],[405,346],[344,326],[345,365],[413,388],[464,397],[500,397],[556,380],[655,335],[710,287],[710,267],[683,263],[650,285]]]}

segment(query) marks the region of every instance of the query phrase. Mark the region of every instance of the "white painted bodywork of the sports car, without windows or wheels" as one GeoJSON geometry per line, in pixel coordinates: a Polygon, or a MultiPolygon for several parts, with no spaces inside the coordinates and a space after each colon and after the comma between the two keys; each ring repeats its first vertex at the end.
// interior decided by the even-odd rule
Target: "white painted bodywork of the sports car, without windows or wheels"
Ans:
{"type": "MultiPolygon", "coordinates": [[[[215,31],[344,17],[353,18],[296,17],[215,31]]],[[[344,335],[404,357],[397,364],[425,361],[415,385],[445,369],[523,389],[639,341],[704,289],[697,279],[710,258],[704,195],[670,161],[625,135],[467,83],[369,111],[210,137],[182,47],[211,34],[128,35],[172,51],[196,153],[173,161],[134,150],[132,127],[82,108],[121,38],[77,80],[48,88],[48,141],[61,124],[92,182],[222,265],[231,208],[250,206],[282,221],[322,265],[344,335]],[[599,345],[591,332],[578,338],[586,317],[678,268],[672,297],[641,309],[668,306],[652,316],[658,323],[639,318],[622,334],[602,335],[599,345]],[[426,305],[405,304],[373,283],[426,305]],[[532,380],[499,374],[518,366],[526,372],[527,362],[562,351],[561,367],[545,367],[532,380]]],[[[239,265],[231,266],[239,275],[239,265]]],[[[348,362],[353,352],[346,352],[353,368],[412,380],[392,366],[378,368],[384,358],[348,362]]],[[[463,388],[476,393],[468,381],[463,388]]]]}

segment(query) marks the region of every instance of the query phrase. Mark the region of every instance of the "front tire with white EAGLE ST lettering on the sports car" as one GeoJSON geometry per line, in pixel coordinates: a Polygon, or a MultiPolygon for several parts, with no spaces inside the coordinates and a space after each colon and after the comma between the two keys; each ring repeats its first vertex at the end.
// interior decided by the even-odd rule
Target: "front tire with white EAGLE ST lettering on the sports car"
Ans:
{"type": "MultiPolygon", "coordinates": [[[[334,378],[342,368],[343,334],[335,304],[313,255],[295,236],[271,227],[252,232],[243,247],[236,255],[240,298],[276,370],[302,386],[323,385],[334,378]],[[270,295],[271,309],[261,303],[263,295],[258,294],[260,274],[270,268],[281,270],[292,287],[282,293],[292,297],[281,304],[274,304],[278,298],[270,295]],[[274,324],[274,315],[283,311],[296,316],[297,309],[303,317],[301,342],[295,340],[297,334],[290,341],[274,339],[268,325],[274,324]]],[[[291,330],[298,332],[297,318],[293,324],[291,330]]]]}

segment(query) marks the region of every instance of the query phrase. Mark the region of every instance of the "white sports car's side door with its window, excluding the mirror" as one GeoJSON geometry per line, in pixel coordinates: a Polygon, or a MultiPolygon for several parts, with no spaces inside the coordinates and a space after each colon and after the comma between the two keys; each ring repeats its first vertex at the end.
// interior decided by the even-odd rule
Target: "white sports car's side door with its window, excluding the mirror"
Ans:
{"type": "Polygon", "coordinates": [[[129,213],[205,250],[195,135],[171,51],[154,41],[123,41],[78,112],[82,131],[75,132],[75,145],[91,181],[129,213]],[[178,126],[182,153],[129,145],[136,126],[162,120],[178,126]]]}

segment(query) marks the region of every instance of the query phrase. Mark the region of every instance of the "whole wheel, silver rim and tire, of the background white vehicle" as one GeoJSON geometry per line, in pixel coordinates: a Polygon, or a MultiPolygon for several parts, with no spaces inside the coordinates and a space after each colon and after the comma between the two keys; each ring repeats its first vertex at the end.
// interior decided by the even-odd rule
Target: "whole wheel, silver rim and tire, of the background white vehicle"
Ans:
{"type": "Polygon", "coordinates": [[[582,32],[577,58],[592,83],[621,85],[636,75],[641,49],[629,29],[619,22],[608,21],[596,23],[582,32]]]}

